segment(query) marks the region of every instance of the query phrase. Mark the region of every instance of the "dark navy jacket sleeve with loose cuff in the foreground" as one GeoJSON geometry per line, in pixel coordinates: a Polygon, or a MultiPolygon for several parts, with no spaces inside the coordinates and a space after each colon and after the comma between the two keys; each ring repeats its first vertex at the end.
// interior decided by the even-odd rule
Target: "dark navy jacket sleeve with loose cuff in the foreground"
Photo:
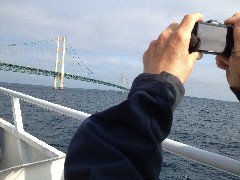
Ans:
{"type": "Polygon", "coordinates": [[[68,148],[65,179],[158,179],[161,142],[183,94],[169,73],[139,75],[126,101],[83,121],[68,148]]]}

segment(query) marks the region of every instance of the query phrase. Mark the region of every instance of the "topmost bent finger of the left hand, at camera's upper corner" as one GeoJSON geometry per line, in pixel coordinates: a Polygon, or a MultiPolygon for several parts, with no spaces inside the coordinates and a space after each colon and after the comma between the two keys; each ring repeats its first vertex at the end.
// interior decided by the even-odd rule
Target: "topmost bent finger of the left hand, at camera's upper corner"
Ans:
{"type": "Polygon", "coordinates": [[[185,32],[189,32],[189,36],[190,36],[195,23],[202,20],[203,20],[203,15],[200,13],[188,14],[183,18],[179,26],[179,29],[185,32]]]}

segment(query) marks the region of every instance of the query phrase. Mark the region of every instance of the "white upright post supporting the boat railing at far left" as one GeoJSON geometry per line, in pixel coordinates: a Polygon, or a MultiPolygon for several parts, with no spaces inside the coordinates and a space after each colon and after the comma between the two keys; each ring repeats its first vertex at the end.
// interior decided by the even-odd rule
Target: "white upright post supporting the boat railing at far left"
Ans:
{"type": "Polygon", "coordinates": [[[25,164],[25,163],[28,163],[27,145],[24,141],[22,141],[19,138],[19,135],[18,135],[19,133],[24,132],[24,128],[23,128],[22,113],[21,113],[19,99],[16,97],[12,97],[12,111],[13,111],[14,125],[16,128],[19,158],[20,158],[20,161],[23,164],[25,164]]]}

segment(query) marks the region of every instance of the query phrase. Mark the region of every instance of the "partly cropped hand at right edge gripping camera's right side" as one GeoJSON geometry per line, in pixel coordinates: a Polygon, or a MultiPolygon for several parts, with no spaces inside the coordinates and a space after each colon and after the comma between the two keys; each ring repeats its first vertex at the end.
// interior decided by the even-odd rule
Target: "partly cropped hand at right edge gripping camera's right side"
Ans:
{"type": "Polygon", "coordinates": [[[220,69],[226,71],[228,84],[240,101],[240,13],[234,14],[224,23],[234,26],[234,49],[230,57],[217,55],[216,64],[220,69]]]}

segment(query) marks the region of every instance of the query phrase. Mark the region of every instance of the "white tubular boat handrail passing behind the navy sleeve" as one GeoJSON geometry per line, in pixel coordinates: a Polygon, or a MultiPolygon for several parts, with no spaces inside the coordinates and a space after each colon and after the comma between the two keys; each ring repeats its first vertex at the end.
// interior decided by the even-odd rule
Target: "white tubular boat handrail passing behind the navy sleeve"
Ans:
{"type": "MultiPolygon", "coordinates": [[[[14,106],[16,106],[15,108],[18,109],[18,112],[13,112],[13,115],[15,116],[14,117],[14,119],[16,119],[15,123],[18,124],[17,126],[19,127],[19,130],[23,129],[21,111],[19,111],[20,110],[19,99],[73,117],[81,121],[90,116],[90,114],[83,113],[54,103],[50,103],[48,101],[44,101],[29,95],[15,92],[3,87],[0,87],[0,92],[12,97],[13,109],[14,106]]],[[[170,139],[166,139],[165,141],[163,141],[162,147],[164,150],[174,153],[176,155],[186,157],[193,161],[199,162],[207,166],[211,166],[213,168],[225,171],[235,176],[240,176],[240,161],[238,160],[224,157],[205,150],[201,150],[199,148],[195,148],[170,139]]]]}

